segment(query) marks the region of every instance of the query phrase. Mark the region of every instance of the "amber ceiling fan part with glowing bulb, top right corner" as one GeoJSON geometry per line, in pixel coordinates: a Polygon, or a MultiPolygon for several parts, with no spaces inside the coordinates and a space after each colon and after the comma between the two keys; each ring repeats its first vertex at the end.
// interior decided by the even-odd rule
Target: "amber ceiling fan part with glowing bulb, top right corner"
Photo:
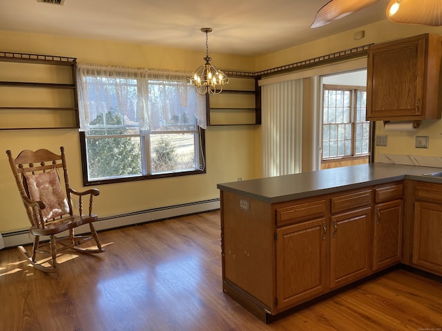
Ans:
{"type": "Polygon", "coordinates": [[[442,26],[441,0],[392,0],[386,13],[394,23],[442,26]]]}

